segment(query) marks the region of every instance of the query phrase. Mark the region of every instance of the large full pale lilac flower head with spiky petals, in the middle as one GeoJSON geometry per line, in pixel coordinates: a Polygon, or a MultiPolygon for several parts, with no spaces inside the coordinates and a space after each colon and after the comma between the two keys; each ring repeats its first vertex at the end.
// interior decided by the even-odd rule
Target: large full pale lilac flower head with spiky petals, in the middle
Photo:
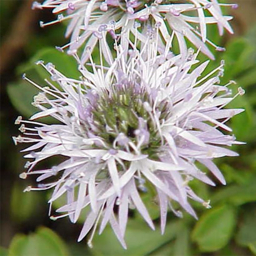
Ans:
{"type": "Polygon", "coordinates": [[[33,102],[40,111],[29,121],[20,116],[16,120],[24,136],[14,137],[14,142],[32,143],[22,150],[30,152],[24,157],[32,161],[20,177],[39,175],[38,186],[25,191],[54,188],[50,206],[66,194],[67,203],[57,209],[64,214],[52,219],[69,216],[75,223],[81,210],[88,209],[78,241],[93,229],[89,246],[96,227],[101,233],[109,222],[126,248],[130,208],[154,229],[141,199],[141,194],[151,193],[149,187],[154,188],[159,204],[162,234],[169,208],[182,216],[173,202],[197,218],[190,199],[206,208],[210,205],[193,192],[190,180],[215,185],[197,163],[226,184],[213,159],[237,156],[223,146],[242,144],[224,132],[232,132],[225,122],[243,111],[224,107],[244,90],[239,87],[231,97],[227,86],[232,81],[219,85],[223,62],[199,78],[209,61],[196,66],[197,54],[191,49],[185,57],[173,56],[167,47],[158,54],[157,43],[151,39],[141,49],[132,42],[130,47],[128,56],[122,45],[116,46],[117,57],[109,67],[96,65],[90,57],[93,71],[80,65],[81,80],[67,78],[52,63],[42,61],[37,64],[50,73],[49,86],[23,77],[42,91],[33,102]],[[56,121],[36,121],[45,116],[56,121]],[[66,159],[51,168],[34,170],[38,162],[56,155],[66,159]]]}

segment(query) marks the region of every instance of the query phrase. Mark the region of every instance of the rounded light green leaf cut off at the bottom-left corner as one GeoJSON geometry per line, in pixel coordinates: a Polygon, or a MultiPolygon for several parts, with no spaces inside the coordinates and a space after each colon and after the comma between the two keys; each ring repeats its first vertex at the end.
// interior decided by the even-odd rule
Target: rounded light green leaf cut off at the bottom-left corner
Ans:
{"type": "Polygon", "coordinates": [[[17,234],[11,241],[9,256],[68,255],[65,243],[51,229],[39,227],[34,234],[17,234]]]}

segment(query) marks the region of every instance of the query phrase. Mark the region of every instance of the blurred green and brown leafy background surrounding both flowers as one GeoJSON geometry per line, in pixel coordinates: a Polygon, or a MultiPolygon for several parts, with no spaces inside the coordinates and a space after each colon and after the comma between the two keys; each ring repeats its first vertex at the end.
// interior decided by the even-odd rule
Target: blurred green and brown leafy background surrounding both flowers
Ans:
{"type": "MultiPolygon", "coordinates": [[[[1,0],[1,255],[253,255],[256,254],[256,1],[236,1],[240,8],[229,9],[234,16],[235,35],[225,33],[219,38],[214,26],[208,36],[226,47],[226,52],[214,52],[216,60],[208,71],[225,60],[222,84],[235,80],[230,88],[233,95],[238,86],[246,94],[237,97],[228,107],[245,108],[229,125],[239,141],[234,145],[240,156],[217,160],[228,185],[218,183],[209,187],[193,181],[193,189],[204,199],[211,199],[212,209],[193,203],[199,220],[184,213],[178,219],[168,214],[166,231],[159,230],[159,212],[150,198],[143,200],[155,219],[152,231],[135,214],[126,230],[127,250],[123,250],[110,227],[96,235],[93,249],[86,239],[76,242],[83,218],[78,224],[69,220],[52,221],[48,218],[49,192],[22,193],[34,178],[20,180],[25,160],[15,147],[11,136],[19,134],[14,121],[18,115],[28,118],[35,111],[31,105],[37,90],[21,79],[26,72],[32,80],[43,84],[46,73],[34,64],[39,59],[52,62],[66,76],[79,77],[72,57],[54,49],[63,45],[64,25],[41,29],[38,20],[52,20],[50,11],[32,11],[32,1],[1,0]]],[[[222,1],[223,2],[223,1],[222,1]]],[[[200,55],[201,60],[206,57],[200,55]]],[[[47,119],[45,120],[47,122],[47,119]]],[[[52,160],[54,162],[54,160],[52,160]]],[[[53,165],[51,161],[48,163],[53,165]]],[[[57,207],[57,205],[55,205],[57,207]]]]}

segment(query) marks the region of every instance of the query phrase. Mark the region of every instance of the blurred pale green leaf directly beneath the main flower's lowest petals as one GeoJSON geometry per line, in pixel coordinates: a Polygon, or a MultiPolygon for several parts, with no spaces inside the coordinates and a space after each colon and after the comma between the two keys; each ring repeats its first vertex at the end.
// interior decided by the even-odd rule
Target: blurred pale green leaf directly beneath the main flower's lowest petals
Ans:
{"type": "Polygon", "coordinates": [[[167,223],[162,236],[159,225],[153,231],[142,221],[129,219],[125,235],[127,250],[121,247],[108,225],[101,235],[95,235],[91,252],[93,255],[146,255],[174,239],[179,227],[179,221],[167,223]]]}

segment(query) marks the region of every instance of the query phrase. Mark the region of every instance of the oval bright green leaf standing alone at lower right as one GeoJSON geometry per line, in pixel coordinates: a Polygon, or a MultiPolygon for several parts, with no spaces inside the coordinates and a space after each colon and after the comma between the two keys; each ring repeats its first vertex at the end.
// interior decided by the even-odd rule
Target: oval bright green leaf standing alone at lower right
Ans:
{"type": "Polygon", "coordinates": [[[200,217],[192,232],[192,239],[202,252],[219,250],[231,239],[235,223],[236,216],[232,207],[215,207],[200,217]]]}

